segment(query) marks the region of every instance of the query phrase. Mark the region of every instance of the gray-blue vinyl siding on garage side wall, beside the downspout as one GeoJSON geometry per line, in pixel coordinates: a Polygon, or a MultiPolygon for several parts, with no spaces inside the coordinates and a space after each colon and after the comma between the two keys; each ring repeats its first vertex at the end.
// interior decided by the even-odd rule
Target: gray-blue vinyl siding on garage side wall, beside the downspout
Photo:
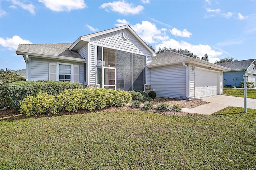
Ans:
{"type": "Polygon", "coordinates": [[[180,99],[185,93],[185,67],[172,65],[151,68],[151,89],[156,91],[158,97],[172,97],[180,99]]]}

